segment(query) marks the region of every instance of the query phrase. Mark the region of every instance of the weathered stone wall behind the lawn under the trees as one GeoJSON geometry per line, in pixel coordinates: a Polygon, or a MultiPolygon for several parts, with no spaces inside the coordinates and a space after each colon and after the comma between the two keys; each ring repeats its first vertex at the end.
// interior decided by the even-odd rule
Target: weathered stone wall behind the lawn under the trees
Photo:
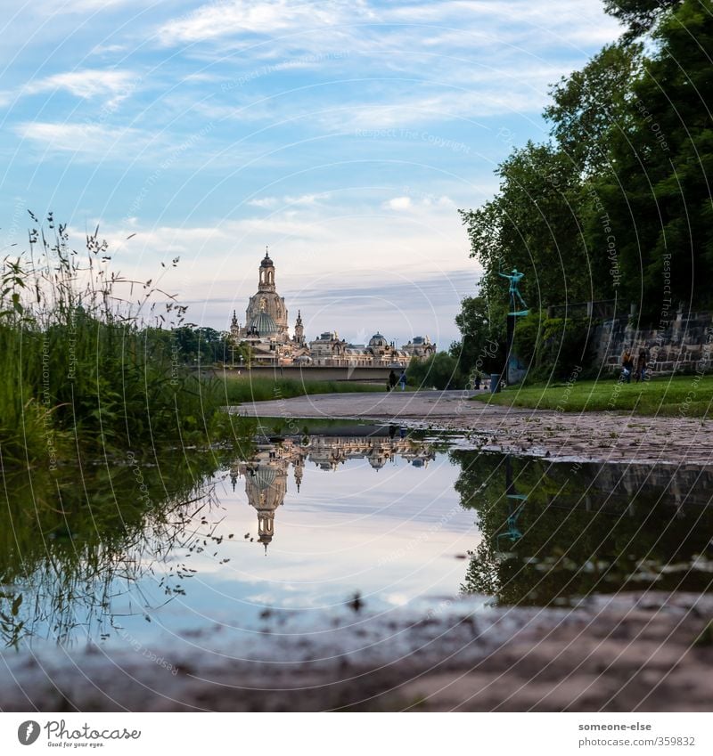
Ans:
{"type": "Polygon", "coordinates": [[[658,329],[639,329],[630,317],[603,321],[594,331],[596,362],[619,370],[625,348],[636,357],[639,349],[649,354],[651,370],[661,373],[713,369],[713,316],[711,313],[677,313],[676,319],[658,329]]]}

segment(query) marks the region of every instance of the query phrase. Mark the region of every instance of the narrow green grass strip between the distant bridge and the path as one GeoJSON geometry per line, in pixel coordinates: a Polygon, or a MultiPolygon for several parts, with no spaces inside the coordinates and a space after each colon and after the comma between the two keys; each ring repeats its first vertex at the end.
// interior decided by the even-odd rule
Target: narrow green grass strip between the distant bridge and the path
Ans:
{"type": "Polygon", "coordinates": [[[351,383],[341,380],[291,380],[289,378],[250,378],[250,376],[225,376],[218,378],[223,383],[223,396],[227,404],[242,402],[266,402],[271,399],[290,399],[309,394],[353,394],[370,391],[385,393],[386,387],[373,383],[351,383]]]}

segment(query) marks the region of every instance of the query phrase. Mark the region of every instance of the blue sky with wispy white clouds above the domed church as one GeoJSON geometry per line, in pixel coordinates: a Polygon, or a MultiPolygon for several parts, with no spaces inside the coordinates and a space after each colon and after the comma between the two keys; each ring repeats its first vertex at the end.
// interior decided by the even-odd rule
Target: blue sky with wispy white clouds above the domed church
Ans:
{"type": "MultiPolygon", "coordinates": [[[[4,0],[0,248],[52,210],[189,320],[244,321],[269,246],[291,324],[458,337],[458,209],[544,141],[550,86],[619,36],[601,0],[4,0]],[[131,238],[128,238],[131,237],[131,238]]],[[[504,296],[505,293],[504,293],[504,296]]]]}

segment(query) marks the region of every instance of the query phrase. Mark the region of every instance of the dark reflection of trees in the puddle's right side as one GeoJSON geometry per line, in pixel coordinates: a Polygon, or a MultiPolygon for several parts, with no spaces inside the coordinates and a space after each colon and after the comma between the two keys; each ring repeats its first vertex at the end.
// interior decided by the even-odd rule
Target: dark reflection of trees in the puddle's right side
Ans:
{"type": "Polygon", "coordinates": [[[464,591],[546,606],[624,589],[710,589],[709,469],[451,457],[482,534],[464,591]]]}

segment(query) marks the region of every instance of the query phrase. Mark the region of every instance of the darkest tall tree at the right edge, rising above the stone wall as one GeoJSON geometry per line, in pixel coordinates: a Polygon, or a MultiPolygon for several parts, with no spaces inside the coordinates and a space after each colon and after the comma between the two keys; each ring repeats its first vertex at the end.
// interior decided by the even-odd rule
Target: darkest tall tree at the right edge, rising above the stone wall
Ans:
{"type": "MultiPolygon", "coordinates": [[[[647,319],[683,302],[713,304],[713,3],[685,0],[652,33],[629,85],[627,127],[612,131],[612,170],[596,192],[617,239],[622,289],[647,319]]],[[[602,230],[588,237],[602,247],[602,230]]]]}

